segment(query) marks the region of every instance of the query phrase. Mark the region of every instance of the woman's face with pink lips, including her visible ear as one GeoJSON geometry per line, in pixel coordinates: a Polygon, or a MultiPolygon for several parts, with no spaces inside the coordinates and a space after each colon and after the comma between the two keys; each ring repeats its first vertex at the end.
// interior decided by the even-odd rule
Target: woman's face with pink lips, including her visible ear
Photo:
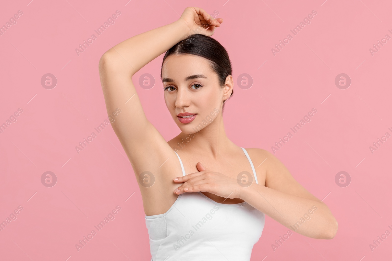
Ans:
{"type": "Polygon", "coordinates": [[[230,83],[220,87],[218,75],[207,59],[187,54],[167,56],[162,83],[166,106],[174,122],[187,134],[200,131],[221,115],[223,101],[232,90],[230,83]]]}

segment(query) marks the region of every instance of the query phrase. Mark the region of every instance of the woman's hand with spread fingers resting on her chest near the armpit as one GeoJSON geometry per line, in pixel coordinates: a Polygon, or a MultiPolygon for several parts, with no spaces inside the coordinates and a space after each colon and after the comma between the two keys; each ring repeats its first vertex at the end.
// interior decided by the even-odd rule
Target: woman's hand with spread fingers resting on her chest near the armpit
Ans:
{"type": "Polygon", "coordinates": [[[176,178],[173,179],[176,183],[184,182],[178,189],[174,190],[174,193],[205,191],[222,198],[240,197],[241,186],[237,179],[206,169],[200,162],[196,164],[196,167],[199,172],[178,177],[177,180],[176,178]]]}

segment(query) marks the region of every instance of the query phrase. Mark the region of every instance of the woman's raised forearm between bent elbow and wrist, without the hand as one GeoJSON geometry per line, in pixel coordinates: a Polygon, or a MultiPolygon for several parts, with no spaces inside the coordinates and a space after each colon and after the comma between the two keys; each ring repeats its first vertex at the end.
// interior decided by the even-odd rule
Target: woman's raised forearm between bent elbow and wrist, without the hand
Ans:
{"type": "MultiPolygon", "coordinates": [[[[157,58],[179,41],[187,38],[191,29],[180,18],[162,27],[143,32],[118,43],[103,56],[114,59],[111,63],[130,76],[157,58]]],[[[118,71],[118,70],[117,70],[118,71]]],[[[118,71],[118,72],[120,72],[118,71]]]]}

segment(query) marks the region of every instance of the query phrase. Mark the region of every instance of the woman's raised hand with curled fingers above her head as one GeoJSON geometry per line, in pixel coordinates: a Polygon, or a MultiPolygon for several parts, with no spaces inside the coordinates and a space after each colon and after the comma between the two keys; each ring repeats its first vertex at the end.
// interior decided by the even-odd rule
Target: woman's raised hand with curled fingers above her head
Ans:
{"type": "Polygon", "coordinates": [[[215,28],[220,27],[222,18],[212,18],[204,9],[199,7],[187,7],[181,14],[181,18],[189,28],[190,34],[204,34],[212,36],[215,28]]]}

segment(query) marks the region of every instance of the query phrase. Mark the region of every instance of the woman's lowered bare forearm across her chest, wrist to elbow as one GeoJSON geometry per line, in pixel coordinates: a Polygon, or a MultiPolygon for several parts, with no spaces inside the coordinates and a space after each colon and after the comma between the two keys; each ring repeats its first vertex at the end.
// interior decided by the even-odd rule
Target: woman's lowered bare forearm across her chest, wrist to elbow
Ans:
{"type": "Polygon", "coordinates": [[[243,187],[240,198],[290,230],[310,238],[331,239],[338,229],[338,223],[323,202],[260,184],[243,187]]]}

